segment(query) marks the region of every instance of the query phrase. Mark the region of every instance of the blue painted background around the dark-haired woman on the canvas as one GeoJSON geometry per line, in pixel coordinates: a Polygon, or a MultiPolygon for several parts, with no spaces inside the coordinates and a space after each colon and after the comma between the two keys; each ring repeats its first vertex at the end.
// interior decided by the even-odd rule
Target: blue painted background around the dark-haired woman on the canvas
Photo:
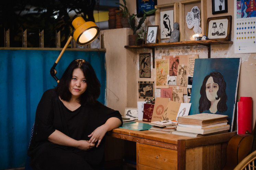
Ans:
{"type": "MultiPolygon", "coordinates": [[[[236,103],[236,91],[237,91],[237,78],[240,72],[240,58],[207,58],[207,59],[195,59],[192,93],[191,93],[191,114],[199,113],[199,99],[200,88],[202,86],[205,76],[209,75],[213,71],[220,72],[226,82],[226,94],[228,110],[216,114],[228,115],[228,124],[233,126],[233,113],[236,103]]],[[[203,113],[210,113],[210,111],[204,111],[203,113]]],[[[231,128],[232,128],[231,126],[231,128]]]]}

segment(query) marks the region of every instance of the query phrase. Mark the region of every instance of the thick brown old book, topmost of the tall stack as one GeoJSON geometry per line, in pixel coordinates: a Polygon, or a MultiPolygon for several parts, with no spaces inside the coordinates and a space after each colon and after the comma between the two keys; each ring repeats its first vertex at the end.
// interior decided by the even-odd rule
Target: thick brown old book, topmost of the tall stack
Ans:
{"type": "Polygon", "coordinates": [[[212,114],[212,113],[199,113],[178,118],[178,122],[188,125],[212,125],[217,123],[227,122],[227,115],[212,114]]]}

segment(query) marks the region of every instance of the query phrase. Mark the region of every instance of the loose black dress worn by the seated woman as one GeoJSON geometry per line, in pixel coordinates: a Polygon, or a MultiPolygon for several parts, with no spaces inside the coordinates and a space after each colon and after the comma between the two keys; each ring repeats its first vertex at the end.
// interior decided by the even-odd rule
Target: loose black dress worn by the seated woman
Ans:
{"type": "Polygon", "coordinates": [[[98,147],[88,151],[54,144],[47,139],[55,129],[75,140],[89,140],[88,135],[110,117],[122,122],[121,114],[100,102],[81,105],[70,111],[59,99],[55,89],[45,91],[36,110],[35,128],[28,156],[34,170],[99,169],[104,157],[105,138],[98,147]]]}

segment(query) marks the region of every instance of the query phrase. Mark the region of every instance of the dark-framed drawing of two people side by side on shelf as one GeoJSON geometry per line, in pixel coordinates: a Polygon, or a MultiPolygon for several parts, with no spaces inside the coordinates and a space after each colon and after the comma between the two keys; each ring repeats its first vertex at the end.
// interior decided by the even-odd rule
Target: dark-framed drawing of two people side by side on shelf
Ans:
{"type": "Polygon", "coordinates": [[[206,34],[208,39],[231,39],[232,16],[207,18],[206,34]]]}

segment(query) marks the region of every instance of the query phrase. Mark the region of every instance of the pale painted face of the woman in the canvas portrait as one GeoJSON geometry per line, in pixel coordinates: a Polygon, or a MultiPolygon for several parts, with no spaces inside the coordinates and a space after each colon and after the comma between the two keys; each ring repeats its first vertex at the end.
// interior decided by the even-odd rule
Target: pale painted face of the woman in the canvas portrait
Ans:
{"type": "Polygon", "coordinates": [[[217,91],[219,90],[219,85],[214,82],[212,77],[209,77],[209,79],[206,82],[206,97],[209,101],[216,100],[217,91]]]}

